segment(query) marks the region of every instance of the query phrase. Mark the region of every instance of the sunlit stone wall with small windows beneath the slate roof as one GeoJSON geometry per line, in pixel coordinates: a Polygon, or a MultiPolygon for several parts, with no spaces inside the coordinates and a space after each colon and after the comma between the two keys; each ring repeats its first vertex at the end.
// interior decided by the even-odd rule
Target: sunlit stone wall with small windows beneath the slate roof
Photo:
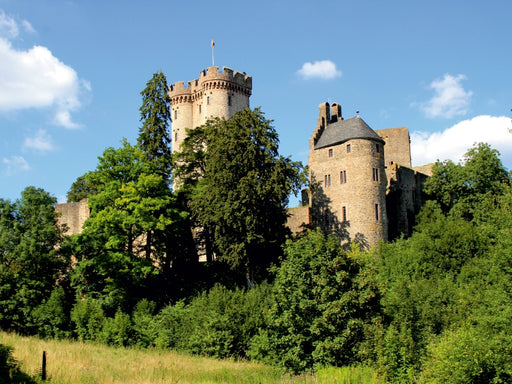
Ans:
{"type": "Polygon", "coordinates": [[[315,224],[332,225],[325,223],[325,209],[328,209],[332,213],[329,220],[338,222],[350,240],[362,239],[369,246],[387,240],[387,179],[382,143],[353,139],[312,150],[309,167],[312,183],[318,187],[312,202],[315,224]],[[347,152],[347,145],[350,145],[350,152],[347,152]],[[378,151],[377,145],[380,146],[378,151]],[[378,180],[374,180],[374,169],[378,180]],[[342,172],[346,174],[346,182],[342,172]]]}

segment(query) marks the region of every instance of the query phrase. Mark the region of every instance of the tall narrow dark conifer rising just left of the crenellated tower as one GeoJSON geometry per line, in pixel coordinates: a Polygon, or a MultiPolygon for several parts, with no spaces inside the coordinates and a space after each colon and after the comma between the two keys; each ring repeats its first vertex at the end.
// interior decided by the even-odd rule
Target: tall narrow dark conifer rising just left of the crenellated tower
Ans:
{"type": "Polygon", "coordinates": [[[171,138],[169,137],[169,94],[167,79],[162,72],[157,72],[141,92],[142,106],[137,144],[146,154],[148,160],[155,162],[158,172],[165,179],[170,176],[171,138]]]}

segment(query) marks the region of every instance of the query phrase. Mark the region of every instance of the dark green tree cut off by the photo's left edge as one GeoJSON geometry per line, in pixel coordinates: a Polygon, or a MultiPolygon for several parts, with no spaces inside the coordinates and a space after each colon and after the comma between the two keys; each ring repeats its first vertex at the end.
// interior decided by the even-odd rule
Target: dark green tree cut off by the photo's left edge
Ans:
{"type": "Polygon", "coordinates": [[[69,259],[59,252],[63,228],[56,199],[27,187],[14,203],[0,199],[0,327],[35,331],[33,309],[47,300],[66,273],[69,259]]]}

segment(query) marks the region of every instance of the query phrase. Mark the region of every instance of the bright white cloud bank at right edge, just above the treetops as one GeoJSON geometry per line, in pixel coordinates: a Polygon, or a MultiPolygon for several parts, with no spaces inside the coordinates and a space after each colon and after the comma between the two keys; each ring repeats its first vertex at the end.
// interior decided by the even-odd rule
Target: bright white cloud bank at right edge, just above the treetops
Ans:
{"type": "Polygon", "coordinates": [[[477,116],[443,132],[411,133],[413,165],[437,160],[458,162],[475,143],[483,142],[500,151],[502,162],[512,166],[512,123],[509,117],[477,116]]]}

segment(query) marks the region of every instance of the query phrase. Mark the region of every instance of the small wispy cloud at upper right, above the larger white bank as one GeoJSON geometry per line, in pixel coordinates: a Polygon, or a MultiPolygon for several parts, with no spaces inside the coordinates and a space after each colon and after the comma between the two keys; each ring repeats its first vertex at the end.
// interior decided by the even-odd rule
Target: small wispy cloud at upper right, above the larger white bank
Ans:
{"type": "Polygon", "coordinates": [[[427,117],[452,118],[468,113],[473,92],[464,89],[462,80],[466,80],[466,76],[445,74],[442,79],[430,83],[429,88],[434,90],[434,96],[428,102],[419,104],[427,117]]]}

